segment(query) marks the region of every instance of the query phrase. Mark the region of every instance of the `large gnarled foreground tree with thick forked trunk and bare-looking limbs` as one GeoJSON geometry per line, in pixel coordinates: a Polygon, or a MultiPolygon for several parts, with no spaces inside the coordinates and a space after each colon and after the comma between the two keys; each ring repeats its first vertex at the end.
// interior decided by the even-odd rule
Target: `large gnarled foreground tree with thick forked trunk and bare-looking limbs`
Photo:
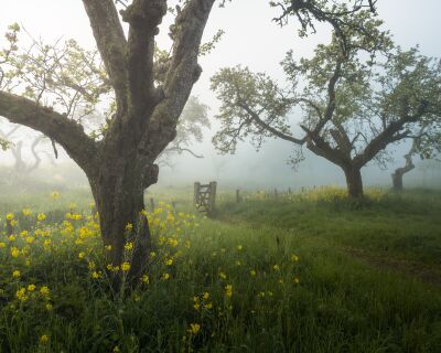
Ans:
{"type": "MultiPolygon", "coordinates": [[[[166,0],[116,1],[123,8],[119,14],[112,0],[83,0],[104,65],[74,41],[61,49],[34,43],[28,52],[18,53],[17,26],[7,34],[9,45],[0,52],[0,116],[43,132],[85,171],[104,243],[111,246],[111,264],[121,261],[127,224],[136,225],[130,269],[135,278],[149,254],[150,232],[146,217],[140,217],[143,192],[158,180],[155,160],[175,138],[181,111],[201,75],[197,56],[206,50],[201,39],[214,1],[175,1],[180,6],[173,11],[170,51],[160,51],[155,44],[166,0]],[[76,113],[92,114],[107,95],[114,100],[111,114],[97,136],[85,130],[76,113]]],[[[344,15],[333,11],[334,1],[331,7],[322,0],[275,6],[289,2],[293,7],[284,8],[287,13],[298,13],[305,23],[337,21],[344,15]]],[[[363,2],[348,3],[358,11],[363,2]]],[[[341,26],[340,21],[334,24],[341,26]]]]}

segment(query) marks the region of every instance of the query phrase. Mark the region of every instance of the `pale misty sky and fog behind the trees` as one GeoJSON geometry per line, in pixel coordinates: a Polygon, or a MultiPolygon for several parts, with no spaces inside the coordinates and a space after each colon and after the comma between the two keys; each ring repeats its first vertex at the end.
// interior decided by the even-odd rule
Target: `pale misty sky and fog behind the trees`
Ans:
{"type": "MultiPolygon", "coordinates": [[[[41,36],[47,42],[60,38],[77,40],[87,49],[94,47],[94,39],[88,19],[80,0],[14,0],[6,1],[0,12],[0,31],[7,25],[18,22],[34,38],[41,36]]],[[[314,156],[308,156],[306,162],[300,165],[299,172],[293,172],[286,160],[291,148],[286,141],[269,141],[260,152],[250,146],[239,145],[235,156],[219,157],[211,146],[211,137],[216,130],[214,115],[219,103],[209,90],[209,77],[223,66],[241,64],[252,71],[261,71],[283,82],[279,62],[284,53],[292,49],[297,57],[311,55],[319,42],[326,41],[329,28],[319,28],[319,33],[308,39],[299,39],[297,23],[280,29],[271,19],[277,13],[265,0],[233,0],[226,8],[215,8],[205,31],[205,40],[222,29],[225,34],[216,50],[201,60],[203,75],[196,83],[193,94],[211,107],[209,116],[213,128],[206,131],[205,142],[194,149],[205,156],[203,160],[179,158],[174,170],[163,169],[160,173],[162,183],[172,183],[172,175],[182,175],[185,182],[196,179],[201,181],[218,180],[238,188],[288,186],[343,183],[342,172],[314,156]]],[[[378,12],[385,21],[385,26],[391,31],[396,42],[405,49],[420,45],[422,54],[441,56],[439,44],[440,33],[440,0],[378,0],[378,12]]],[[[168,23],[161,28],[160,45],[168,47],[168,23]]],[[[399,160],[399,156],[397,156],[399,160]]],[[[0,161],[6,161],[3,152],[0,161]]],[[[420,178],[419,171],[413,171],[413,179],[420,178]]],[[[372,165],[363,169],[363,175],[368,184],[389,183],[390,171],[379,171],[372,165]]]]}

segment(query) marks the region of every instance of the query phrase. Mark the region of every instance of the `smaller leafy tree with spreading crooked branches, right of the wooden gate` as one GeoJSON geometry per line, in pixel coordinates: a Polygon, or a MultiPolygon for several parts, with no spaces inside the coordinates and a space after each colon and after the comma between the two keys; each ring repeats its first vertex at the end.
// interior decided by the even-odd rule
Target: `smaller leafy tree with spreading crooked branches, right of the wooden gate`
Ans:
{"type": "Polygon", "coordinates": [[[417,49],[394,47],[381,21],[369,11],[348,13],[348,25],[334,29],[332,42],[312,58],[282,62],[287,88],[263,73],[241,66],[220,69],[212,88],[222,101],[222,124],[214,145],[234,152],[238,140],[251,137],[258,148],[269,137],[294,145],[338,165],[348,194],[363,195],[361,169],[380,161],[389,143],[410,138],[421,124],[440,121],[441,66],[417,49]],[[302,111],[293,131],[292,115],[302,111]],[[300,135],[295,137],[295,135],[300,135]]]}

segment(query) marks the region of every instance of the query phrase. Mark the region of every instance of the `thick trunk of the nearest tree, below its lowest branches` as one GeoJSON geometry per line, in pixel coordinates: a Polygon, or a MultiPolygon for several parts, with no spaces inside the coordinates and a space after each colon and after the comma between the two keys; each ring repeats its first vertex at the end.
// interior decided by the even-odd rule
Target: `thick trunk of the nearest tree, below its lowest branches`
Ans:
{"type": "MultiPolygon", "coordinates": [[[[154,167],[152,174],[158,175],[154,167]]],[[[101,171],[90,181],[107,264],[119,271],[109,271],[114,289],[119,289],[121,278],[137,284],[146,272],[151,248],[151,236],[144,210],[144,173],[125,164],[120,173],[115,168],[101,171]],[[126,245],[131,243],[131,246],[126,245]],[[127,264],[130,264],[129,269],[127,264]],[[125,264],[123,267],[121,265],[125,264]]]]}

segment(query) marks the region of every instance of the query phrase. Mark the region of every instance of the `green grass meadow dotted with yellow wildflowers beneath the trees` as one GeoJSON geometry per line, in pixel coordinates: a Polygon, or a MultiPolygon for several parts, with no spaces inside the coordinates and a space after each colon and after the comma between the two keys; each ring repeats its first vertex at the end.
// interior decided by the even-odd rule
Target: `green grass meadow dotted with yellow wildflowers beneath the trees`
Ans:
{"type": "Polygon", "coordinates": [[[441,352],[440,192],[232,191],[213,218],[191,192],[147,195],[149,271],[114,292],[130,227],[112,268],[87,190],[6,191],[0,352],[441,352]]]}

